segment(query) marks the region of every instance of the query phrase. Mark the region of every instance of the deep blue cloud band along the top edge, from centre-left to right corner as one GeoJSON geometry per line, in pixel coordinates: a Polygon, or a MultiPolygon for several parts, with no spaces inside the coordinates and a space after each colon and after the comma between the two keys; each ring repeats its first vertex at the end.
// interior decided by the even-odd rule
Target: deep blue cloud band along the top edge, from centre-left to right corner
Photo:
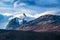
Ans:
{"type": "Polygon", "coordinates": [[[57,5],[59,5],[60,3],[60,1],[59,0],[17,0],[16,1],[18,4],[20,4],[20,3],[25,3],[25,4],[28,4],[28,5],[39,5],[39,6],[45,6],[45,5],[47,5],[47,6],[57,6],[57,5]]]}

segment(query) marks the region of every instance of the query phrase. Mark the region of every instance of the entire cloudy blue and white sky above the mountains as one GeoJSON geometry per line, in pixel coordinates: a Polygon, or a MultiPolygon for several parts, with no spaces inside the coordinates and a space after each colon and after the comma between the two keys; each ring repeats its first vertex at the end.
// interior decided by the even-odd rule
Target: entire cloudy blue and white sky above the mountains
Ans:
{"type": "Polygon", "coordinates": [[[45,14],[60,15],[60,0],[0,0],[0,29],[5,29],[12,18],[21,18],[23,13],[29,20],[45,14]]]}

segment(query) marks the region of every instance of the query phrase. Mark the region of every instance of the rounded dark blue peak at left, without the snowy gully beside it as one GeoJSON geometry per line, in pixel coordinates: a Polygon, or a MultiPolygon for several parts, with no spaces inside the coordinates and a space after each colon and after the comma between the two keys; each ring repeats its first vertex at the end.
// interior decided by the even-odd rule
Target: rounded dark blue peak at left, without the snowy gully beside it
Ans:
{"type": "Polygon", "coordinates": [[[18,26],[20,26],[19,21],[18,21],[18,18],[14,18],[14,19],[12,19],[12,20],[8,23],[7,29],[8,29],[8,30],[9,30],[9,29],[15,29],[15,28],[17,28],[18,26]]]}

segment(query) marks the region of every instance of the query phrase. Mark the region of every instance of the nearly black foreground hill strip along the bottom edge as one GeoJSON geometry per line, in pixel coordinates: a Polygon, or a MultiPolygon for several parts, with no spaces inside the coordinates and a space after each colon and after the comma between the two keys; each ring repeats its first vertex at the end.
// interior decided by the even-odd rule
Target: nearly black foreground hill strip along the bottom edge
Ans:
{"type": "Polygon", "coordinates": [[[0,30],[0,40],[60,40],[60,32],[0,30]]]}

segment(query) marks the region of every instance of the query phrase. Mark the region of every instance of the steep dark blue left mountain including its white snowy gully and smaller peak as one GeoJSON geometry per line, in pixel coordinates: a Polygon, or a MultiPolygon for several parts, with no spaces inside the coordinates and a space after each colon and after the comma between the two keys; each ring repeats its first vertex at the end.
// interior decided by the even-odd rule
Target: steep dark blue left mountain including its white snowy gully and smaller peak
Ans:
{"type": "Polygon", "coordinates": [[[16,17],[16,18],[13,18],[12,20],[10,20],[6,29],[14,30],[14,29],[18,28],[19,26],[22,26],[25,23],[26,23],[26,20],[20,20],[19,18],[16,17]]]}

